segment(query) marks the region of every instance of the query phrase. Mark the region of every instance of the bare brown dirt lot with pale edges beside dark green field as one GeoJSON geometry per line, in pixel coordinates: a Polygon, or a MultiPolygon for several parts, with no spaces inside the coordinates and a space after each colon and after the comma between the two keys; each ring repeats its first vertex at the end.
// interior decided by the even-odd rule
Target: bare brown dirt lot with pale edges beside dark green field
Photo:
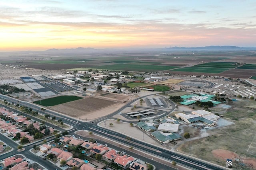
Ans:
{"type": "Polygon", "coordinates": [[[89,121],[112,113],[125,105],[124,101],[131,98],[130,96],[124,96],[122,94],[105,94],[104,96],[89,96],[81,100],[48,108],[70,117],[77,117],[80,120],[89,121]]]}

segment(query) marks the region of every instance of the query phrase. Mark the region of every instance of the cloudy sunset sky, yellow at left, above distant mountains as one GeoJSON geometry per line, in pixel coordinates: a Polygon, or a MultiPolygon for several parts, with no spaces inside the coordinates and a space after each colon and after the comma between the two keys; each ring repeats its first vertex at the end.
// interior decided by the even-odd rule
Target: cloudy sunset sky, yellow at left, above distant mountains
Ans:
{"type": "Polygon", "coordinates": [[[256,47],[256,0],[0,0],[0,51],[256,47]]]}

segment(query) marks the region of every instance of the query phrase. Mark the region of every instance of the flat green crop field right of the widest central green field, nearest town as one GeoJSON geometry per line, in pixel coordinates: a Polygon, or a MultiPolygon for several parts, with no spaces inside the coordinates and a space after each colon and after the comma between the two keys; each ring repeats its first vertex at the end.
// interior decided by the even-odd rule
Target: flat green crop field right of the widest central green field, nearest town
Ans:
{"type": "Polygon", "coordinates": [[[202,73],[220,73],[228,70],[229,68],[209,68],[209,67],[185,67],[174,69],[173,71],[184,71],[184,72],[202,72],[202,73]]]}

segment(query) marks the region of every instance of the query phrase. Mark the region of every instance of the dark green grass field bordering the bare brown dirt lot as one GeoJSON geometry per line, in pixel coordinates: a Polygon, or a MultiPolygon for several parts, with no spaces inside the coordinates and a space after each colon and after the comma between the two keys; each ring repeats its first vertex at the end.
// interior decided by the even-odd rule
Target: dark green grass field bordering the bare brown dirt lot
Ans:
{"type": "Polygon", "coordinates": [[[66,102],[72,102],[74,100],[79,100],[79,99],[82,99],[82,98],[80,98],[78,96],[57,96],[55,98],[38,100],[34,103],[42,105],[42,106],[55,106],[55,105],[58,105],[58,104],[63,104],[63,103],[66,103],[66,102]]]}

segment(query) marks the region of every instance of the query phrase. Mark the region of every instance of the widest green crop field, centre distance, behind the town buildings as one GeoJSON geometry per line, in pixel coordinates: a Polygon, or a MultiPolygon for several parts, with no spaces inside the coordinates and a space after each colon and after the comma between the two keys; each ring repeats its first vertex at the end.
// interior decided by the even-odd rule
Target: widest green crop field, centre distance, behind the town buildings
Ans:
{"type": "Polygon", "coordinates": [[[106,65],[106,66],[94,66],[94,68],[101,68],[106,70],[154,72],[154,71],[170,70],[178,67],[177,66],[140,65],[140,64],[113,64],[113,65],[106,65]]]}

